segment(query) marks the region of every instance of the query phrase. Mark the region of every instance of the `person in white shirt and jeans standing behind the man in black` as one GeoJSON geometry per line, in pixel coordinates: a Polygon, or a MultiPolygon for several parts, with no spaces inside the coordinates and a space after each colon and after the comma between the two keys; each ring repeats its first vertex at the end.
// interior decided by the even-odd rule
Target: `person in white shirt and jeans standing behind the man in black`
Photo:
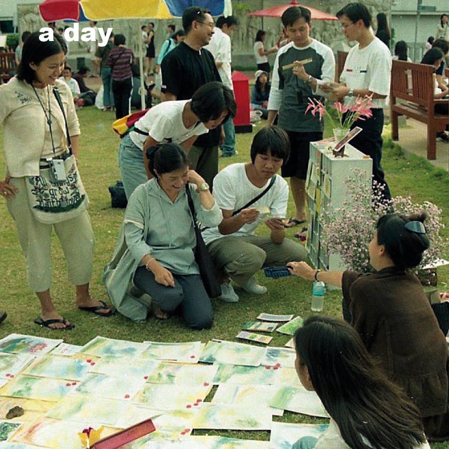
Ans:
{"type": "MultiPolygon", "coordinates": [[[[238,22],[234,16],[220,16],[215,22],[214,33],[209,44],[204,48],[212,53],[215,59],[221,82],[234,91],[231,79],[231,34],[238,22]]],[[[228,158],[236,154],[236,132],[234,122],[230,117],[223,123],[224,141],[220,146],[221,156],[228,158]]]]}

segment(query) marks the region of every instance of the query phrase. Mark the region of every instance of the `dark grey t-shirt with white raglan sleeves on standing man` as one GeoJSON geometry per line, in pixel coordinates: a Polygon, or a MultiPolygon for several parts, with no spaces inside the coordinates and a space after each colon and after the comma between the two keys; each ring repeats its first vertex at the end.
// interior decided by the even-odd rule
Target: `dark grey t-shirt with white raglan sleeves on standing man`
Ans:
{"type": "Polygon", "coordinates": [[[312,39],[307,47],[296,47],[293,42],[282,47],[276,55],[271,84],[268,109],[279,110],[278,125],[287,131],[319,132],[323,122],[319,116],[305,114],[310,98],[322,99],[320,92],[312,88],[293,74],[292,68],[282,67],[294,61],[305,61],[304,69],[312,77],[333,81],[335,76],[335,58],[332,50],[321,42],[312,39]]]}

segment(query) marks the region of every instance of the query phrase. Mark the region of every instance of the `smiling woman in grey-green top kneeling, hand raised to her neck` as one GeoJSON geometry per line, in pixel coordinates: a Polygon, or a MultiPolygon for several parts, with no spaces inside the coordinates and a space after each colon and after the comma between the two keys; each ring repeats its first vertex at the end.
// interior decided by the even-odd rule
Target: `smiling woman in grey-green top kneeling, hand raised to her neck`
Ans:
{"type": "Polygon", "coordinates": [[[167,319],[179,308],[189,327],[211,327],[213,310],[194,257],[196,239],[186,188],[205,226],[221,222],[220,209],[204,179],[189,170],[180,145],[158,145],[148,166],[154,177],[129,198],[103,281],[118,311],[134,321],[146,318],[148,304],[128,295],[130,283],[153,298],[156,318],[167,319]]]}

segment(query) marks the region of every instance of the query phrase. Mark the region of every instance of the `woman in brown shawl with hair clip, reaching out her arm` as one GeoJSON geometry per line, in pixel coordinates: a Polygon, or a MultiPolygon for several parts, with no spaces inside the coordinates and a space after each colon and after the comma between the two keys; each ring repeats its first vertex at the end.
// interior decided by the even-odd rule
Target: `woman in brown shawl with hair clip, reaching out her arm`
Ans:
{"type": "Polygon", "coordinates": [[[449,439],[446,341],[418,278],[417,267],[429,247],[425,215],[388,214],[377,223],[369,244],[372,274],[321,272],[292,262],[291,273],[343,289],[351,324],[368,352],[391,380],[417,404],[429,441],[449,439]]]}

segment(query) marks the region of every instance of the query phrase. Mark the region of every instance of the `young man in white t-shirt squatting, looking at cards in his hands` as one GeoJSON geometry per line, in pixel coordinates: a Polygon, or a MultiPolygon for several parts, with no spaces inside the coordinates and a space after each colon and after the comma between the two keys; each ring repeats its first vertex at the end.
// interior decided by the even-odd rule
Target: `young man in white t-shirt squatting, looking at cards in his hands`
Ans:
{"type": "MultiPolygon", "coordinates": [[[[284,130],[277,126],[261,129],[251,144],[251,162],[228,165],[214,179],[213,195],[223,221],[203,231],[204,241],[215,266],[253,294],[267,292],[254,277],[260,268],[307,258],[304,246],[285,238],[288,184],[277,172],[289,152],[284,130]],[[268,236],[254,235],[262,221],[270,230],[268,236]]],[[[228,282],[221,284],[219,298],[233,303],[239,300],[228,282]]]]}

